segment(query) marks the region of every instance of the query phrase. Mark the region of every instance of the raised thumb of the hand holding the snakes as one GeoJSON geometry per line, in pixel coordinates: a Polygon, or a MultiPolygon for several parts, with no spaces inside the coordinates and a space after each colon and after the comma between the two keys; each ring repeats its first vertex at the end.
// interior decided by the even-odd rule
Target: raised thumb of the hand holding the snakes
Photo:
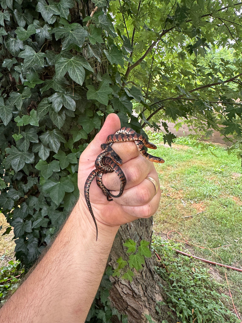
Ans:
{"type": "MultiPolygon", "coordinates": [[[[107,116],[101,130],[96,134],[93,141],[91,141],[91,143],[86,147],[84,151],[85,155],[87,153],[90,159],[93,156],[96,158],[96,156],[102,151],[100,145],[105,143],[107,136],[114,134],[120,128],[120,126],[119,117],[115,113],[110,113],[107,116]]],[[[84,157],[83,153],[81,154],[81,157],[84,157]]]]}

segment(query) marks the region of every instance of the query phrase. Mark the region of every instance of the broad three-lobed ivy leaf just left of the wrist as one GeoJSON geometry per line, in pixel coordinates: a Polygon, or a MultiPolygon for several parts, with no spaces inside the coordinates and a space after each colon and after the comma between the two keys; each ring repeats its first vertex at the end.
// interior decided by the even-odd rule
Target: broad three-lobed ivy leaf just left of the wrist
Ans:
{"type": "Polygon", "coordinates": [[[43,189],[49,193],[50,198],[56,205],[62,202],[66,192],[73,192],[74,188],[74,184],[69,177],[61,177],[58,182],[46,180],[43,185],[43,189]]]}

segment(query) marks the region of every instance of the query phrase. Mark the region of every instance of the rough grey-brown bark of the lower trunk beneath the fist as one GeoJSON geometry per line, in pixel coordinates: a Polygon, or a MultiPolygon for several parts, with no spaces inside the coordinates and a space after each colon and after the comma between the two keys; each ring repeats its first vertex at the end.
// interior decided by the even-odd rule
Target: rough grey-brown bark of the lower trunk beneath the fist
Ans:
{"type": "MultiPolygon", "coordinates": [[[[116,268],[116,259],[120,256],[127,260],[126,247],[123,243],[131,238],[136,242],[151,241],[152,218],[139,219],[122,225],[119,229],[113,248],[110,253],[109,265],[116,268]]],[[[129,323],[147,323],[145,314],[153,321],[162,322],[166,319],[173,323],[176,320],[167,318],[168,307],[162,306],[161,313],[156,310],[157,302],[164,301],[166,295],[160,286],[161,278],[156,275],[154,267],[157,265],[155,256],[146,258],[144,268],[133,277],[132,283],[127,280],[112,278],[113,287],[110,291],[110,300],[114,307],[128,316],[129,323]]],[[[163,282],[164,283],[164,282],[163,282]]],[[[117,321],[118,322],[118,321],[117,321]]]]}

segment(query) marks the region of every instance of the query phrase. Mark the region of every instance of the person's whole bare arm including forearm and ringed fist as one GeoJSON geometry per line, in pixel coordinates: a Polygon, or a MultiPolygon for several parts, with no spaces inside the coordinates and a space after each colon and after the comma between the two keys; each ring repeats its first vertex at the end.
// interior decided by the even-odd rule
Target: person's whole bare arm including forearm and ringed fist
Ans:
{"type": "MultiPolygon", "coordinates": [[[[160,191],[145,179],[158,176],[153,163],[142,157],[133,142],[115,143],[114,150],[123,159],[126,175],[125,191],[107,202],[94,181],[90,199],[98,226],[96,228],[86,206],[84,183],[94,169],[100,144],[120,128],[115,114],[106,122],[95,139],[82,153],[79,162],[80,198],[54,243],[15,294],[0,311],[3,322],[84,322],[96,295],[106,261],[120,224],[149,217],[155,213],[160,191]]],[[[115,173],[104,174],[105,186],[119,190],[115,173]]]]}

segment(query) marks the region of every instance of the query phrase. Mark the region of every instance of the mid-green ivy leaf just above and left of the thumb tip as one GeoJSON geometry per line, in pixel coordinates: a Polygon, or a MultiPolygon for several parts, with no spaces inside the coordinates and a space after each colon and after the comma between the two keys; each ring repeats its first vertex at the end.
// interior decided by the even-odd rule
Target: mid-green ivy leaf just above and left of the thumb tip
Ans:
{"type": "Polygon", "coordinates": [[[98,89],[96,90],[93,85],[87,85],[86,97],[88,100],[97,100],[98,102],[108,105],[108,94],[112,92],[106,80],[101,81],[98,89]]]}

